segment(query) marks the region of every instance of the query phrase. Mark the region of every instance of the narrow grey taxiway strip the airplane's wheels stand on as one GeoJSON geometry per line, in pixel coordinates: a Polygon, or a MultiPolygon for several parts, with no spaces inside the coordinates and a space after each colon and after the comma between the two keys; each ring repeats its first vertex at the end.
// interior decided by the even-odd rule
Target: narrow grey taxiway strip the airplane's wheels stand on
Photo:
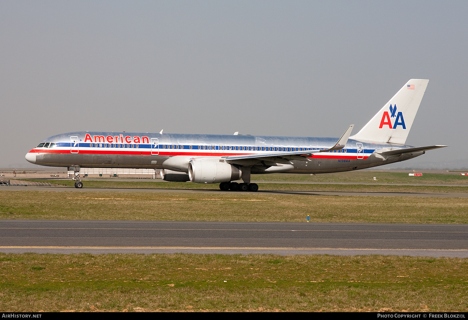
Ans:
{"type": "MultiPolygon", "coordinates": [[[[317,187],[320,189],[320,187],[317,187]]],[[[33,187],[33,186],[0,186],[1,190],[9,191],[71,191],[71,192],[155,192],[155,193],[232,193],[247,194],[252,192],[222,191],[219,189],[144,189],[144,188],[66,188],[66,187],[33,187]]],[[[466,198],[468,193],[424,193],[424,192],[362,192],[362,191],[283,191],[283,190],[258,190],[256,194],[276,195],[305,195],[305,196],[417,196],[417,197],[450,197],[466,198]]]]}

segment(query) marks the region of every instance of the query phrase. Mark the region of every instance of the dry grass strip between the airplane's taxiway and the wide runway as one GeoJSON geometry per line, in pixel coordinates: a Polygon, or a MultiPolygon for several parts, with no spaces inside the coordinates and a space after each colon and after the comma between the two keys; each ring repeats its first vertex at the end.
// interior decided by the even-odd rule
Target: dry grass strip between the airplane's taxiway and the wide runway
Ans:
{"type": "Polygon", "coordinates": [[[0,219],[468,223],[468,198],[3,191],[0,219]]]}

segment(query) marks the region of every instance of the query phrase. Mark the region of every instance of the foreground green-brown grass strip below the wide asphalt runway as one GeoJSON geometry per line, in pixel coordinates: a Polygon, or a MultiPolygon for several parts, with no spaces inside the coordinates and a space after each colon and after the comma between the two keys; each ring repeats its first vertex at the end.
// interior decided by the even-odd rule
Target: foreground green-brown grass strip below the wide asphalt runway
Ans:
{"type": "Polygon", "coordinates": [[[0,254],[0,310],[463,311],[468,259],[0,254]]]}

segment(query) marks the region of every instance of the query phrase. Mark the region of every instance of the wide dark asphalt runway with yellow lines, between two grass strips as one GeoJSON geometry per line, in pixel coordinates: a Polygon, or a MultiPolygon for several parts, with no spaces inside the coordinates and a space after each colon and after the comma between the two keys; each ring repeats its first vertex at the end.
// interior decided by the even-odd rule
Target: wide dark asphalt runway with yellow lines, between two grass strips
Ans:
{"type": "Polygon", "coordinates": [[[468,225],[0,220],[5,253],[468,257],[468,225]]]}

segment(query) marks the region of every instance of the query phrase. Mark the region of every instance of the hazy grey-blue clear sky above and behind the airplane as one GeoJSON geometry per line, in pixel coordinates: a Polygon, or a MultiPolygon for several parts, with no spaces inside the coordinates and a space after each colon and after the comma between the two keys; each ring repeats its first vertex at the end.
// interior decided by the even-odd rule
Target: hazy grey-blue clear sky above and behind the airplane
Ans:
{"type": "Polygon", "coordinates": [[[468,167],[467,1],[0,0],[0,167],[71,131],[340,137],[430,79],[382,168],[468,167]]]}

